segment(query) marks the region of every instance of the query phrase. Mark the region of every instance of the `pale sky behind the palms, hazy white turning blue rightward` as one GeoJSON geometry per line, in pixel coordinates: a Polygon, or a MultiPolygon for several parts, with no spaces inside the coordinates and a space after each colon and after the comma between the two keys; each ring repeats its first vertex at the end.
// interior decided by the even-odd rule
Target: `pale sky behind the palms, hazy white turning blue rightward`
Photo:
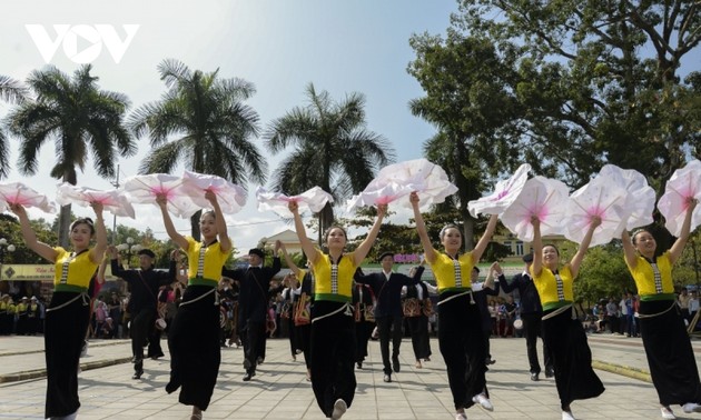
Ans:
{"type": "MultiPolygon", "coordinates": [[[[305,87],[313,82],[317,90],[327,90],[337,100],[350,92],[365,94],[367,128],[394,144],[397,161],[411,160],[421,157],[423,141],[435,130],[408,111],[408,101],[423,94],[406,72],[414,59],[408,38],[424,31],[444,33],[450,13],[456,8],[454,0],[8,1],[0,17],[0,74],[24,80],[31,70],[45,66],[27,24],[41,24],[51,40],[57,37],[53,24],[107,24],[117,28],[121,39],[126,36],[122,24],[138,24],[119,63],[108,53],[106,42],[91,61],[101,88],[127,94],[132,108],[157,100],[162,93],[157,64],[165,58],[180,60],[190,69],[219,68],[224,78],[253,82],[257,93],[248,103],[259,113],[261,129],[303,104],[305,87]]],[[[90,46],[79,42],[79,50],[90,46]]],[[[63,47],[57,44],[50,63],[72,73],[79,64],[71,61],[63,47]]],[[[0,116],[6,111],[7,107],[0,109],[0,116]]],[[[139,146],[137,157],[119,162],[120,178],[136,174],[148,152],[147,139],[139,140],[139,146]]],[[[56,181],[48,172],[53,159],[53,144],[49,142],[42,149],[36,177],[26,179],[13,170],[0,182],[22,181],[52,198],[56,181]]],[[[16,160],[14,148],[12,164],[16,160]]],[[[268,173],[278,160],[269,159],[268,173]]],[[[79,173],[78,184],[110,188],[90,168],[79,173]]],[[[249,191],[255,188],[248,186],[249,191]]],[[[137,229],[150,226],[157,237],[165,238],[155,210],[139,204],[137,220],[117,222],[137,229]]],[[[73,211],[90,213],[76,206],[73,211]]],[[[31,216],[51,219],[38,211],[31,216]]],[[[240,250],[255,246],[261,236],[287,228],[274,213],[258,212],[254,197],[227,221],[240,250]]],[[[176,224],[188,231],[187,221],[176,224]]]]}

